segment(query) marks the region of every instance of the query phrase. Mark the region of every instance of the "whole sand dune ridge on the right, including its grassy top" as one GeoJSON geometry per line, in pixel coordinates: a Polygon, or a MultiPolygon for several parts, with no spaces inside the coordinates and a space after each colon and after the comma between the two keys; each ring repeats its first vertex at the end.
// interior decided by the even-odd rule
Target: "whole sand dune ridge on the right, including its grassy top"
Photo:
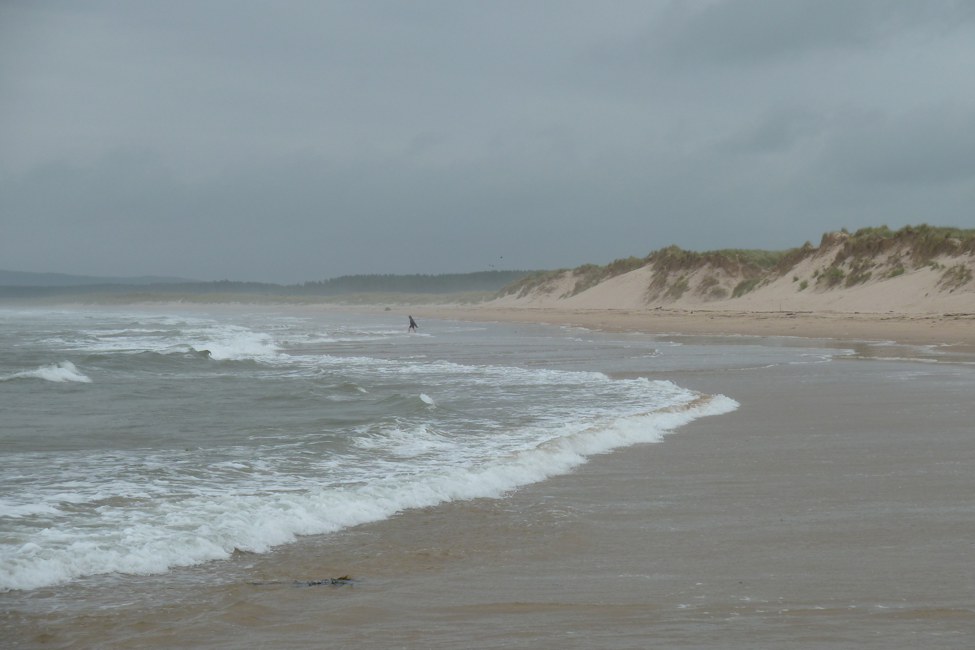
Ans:
{"type": "Polygon", "coordinates": [[[807,243],[786,251],[670,247],[605,267],[536,274],[502,289],[508,293],[493,302],[568,309],[975,311],[975,237],[952,237],[952,230],[865,228],[826,233],[817,248],[807,243]]]}

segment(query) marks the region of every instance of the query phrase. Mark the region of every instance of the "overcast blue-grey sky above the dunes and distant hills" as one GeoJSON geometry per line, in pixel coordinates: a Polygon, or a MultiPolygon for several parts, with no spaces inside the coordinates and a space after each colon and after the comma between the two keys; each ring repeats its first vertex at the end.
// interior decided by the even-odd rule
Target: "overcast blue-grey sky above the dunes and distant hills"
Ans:
{"type": "Polygon", "coordinates": [[[973,78],[973,0],[5,0],[0,268],[297,282],[975,227],[973,78]]]}

